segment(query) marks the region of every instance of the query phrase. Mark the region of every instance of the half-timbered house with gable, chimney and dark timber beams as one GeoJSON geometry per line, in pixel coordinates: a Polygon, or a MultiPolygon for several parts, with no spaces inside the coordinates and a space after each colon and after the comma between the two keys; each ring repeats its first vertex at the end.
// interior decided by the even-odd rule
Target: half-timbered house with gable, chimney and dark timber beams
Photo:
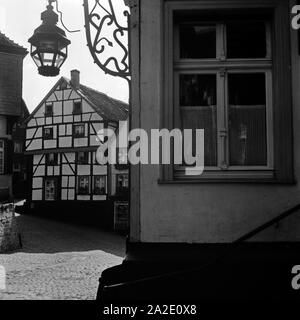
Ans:
{"type": "Polygon", "coordinates": [[[75,216],[90,208],[111,224],[113,200],[128,190],[128,169],[97,163],[97,133],[117,130],[127,118],[126,103],[82,85],[79,71],[71,72],[71,81],[61,78],[26,120],[31,209],[63,215],[67,208],[75,216]]]}

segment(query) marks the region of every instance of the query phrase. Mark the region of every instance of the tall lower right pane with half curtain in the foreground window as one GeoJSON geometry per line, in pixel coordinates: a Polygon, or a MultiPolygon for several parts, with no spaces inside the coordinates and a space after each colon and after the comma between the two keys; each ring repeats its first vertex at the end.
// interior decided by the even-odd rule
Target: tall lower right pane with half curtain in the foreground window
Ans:
{"type": "Polygon", "coordinates": [[[230,165],[267,165],[265,74],[230,74],[230,165]]]}

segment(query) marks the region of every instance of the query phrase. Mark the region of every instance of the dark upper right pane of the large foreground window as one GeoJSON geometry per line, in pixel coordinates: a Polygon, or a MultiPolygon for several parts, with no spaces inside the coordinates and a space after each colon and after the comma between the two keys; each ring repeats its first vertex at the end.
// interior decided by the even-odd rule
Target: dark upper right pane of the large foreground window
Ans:
{"type": "Polygon", "coordinates": [[[228,58],[266,57],[266,26],[263,21],[230,22],[226,30],[228,58]]]}

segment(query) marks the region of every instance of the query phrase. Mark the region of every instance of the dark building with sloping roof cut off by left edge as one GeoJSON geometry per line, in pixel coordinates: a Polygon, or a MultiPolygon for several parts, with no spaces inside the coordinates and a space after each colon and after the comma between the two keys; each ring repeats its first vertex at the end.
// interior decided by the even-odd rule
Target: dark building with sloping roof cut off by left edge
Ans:
{"type": "MultiPolygon", "coordinates": [[[[21,191],[22,188],[18,187],[19,181],[13,178],[13,169],[24,164],[22,150],[17,162],[13,162],[13,135],[14,128],[21,125],[28,112],[22,100],[23,59],[26,55],[25,48],[0,33],[0,201],[12,200],[14,187],[20,189],[18,197],[25,197],[24,189],[21,191]]],[[[21,145],[24,144],[24,134],[24,131],[18,133],[21,145]]]]}

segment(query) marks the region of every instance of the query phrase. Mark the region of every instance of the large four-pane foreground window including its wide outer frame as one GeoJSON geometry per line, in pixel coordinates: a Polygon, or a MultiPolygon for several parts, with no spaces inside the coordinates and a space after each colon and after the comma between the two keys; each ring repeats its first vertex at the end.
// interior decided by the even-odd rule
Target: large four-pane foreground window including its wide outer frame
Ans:
{"type": "Polygon", "coordinates": [[[285,121],[281,134],[291,138],[289,61],[278,53],[285,50],[287,57],[289,46],[275,45],[284,30],[274,30],[280,7],[274,1],[274,18],[274,11],[254,11],[247,2],[233,1],[230,12],[205,1],[188,10],[184,1],[166,5],[165,76],[173,80],[165,81],[165,127],[204,129],[205,170],[188,177],[184,164],[164,167],[165,180],[293,180],[292,146],[276,140],[274,130],[274,119],[285,121]],[[289,150],[285,160],[281,147],[289,150]]]}

